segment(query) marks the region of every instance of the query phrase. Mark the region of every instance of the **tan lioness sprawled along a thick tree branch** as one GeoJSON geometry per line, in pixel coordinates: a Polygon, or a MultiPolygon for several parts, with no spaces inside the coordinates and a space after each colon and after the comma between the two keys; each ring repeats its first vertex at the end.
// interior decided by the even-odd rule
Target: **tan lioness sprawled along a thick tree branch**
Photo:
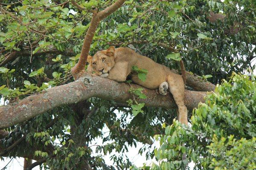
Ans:
{"type": "Polygon", "coordinates": [[[87,71],[101,77],[124,82],[131,74],[131,79],[145,88],[157,89],[160,94],[166,95],[167,89],[172,93],[177,103],[177,117],[183,124],[188,124],[187,108],[184,105],[184,82],[181,75],[173,73],[169,68],[154,62],[152,59],[137,54],[130,48],[109,47],[107,50],[97,51],[91,57],[88,56],[89,65],[87,71]],[[132,66],[148,70],[145,82],[141,81],[132,70],[132,66]]]}

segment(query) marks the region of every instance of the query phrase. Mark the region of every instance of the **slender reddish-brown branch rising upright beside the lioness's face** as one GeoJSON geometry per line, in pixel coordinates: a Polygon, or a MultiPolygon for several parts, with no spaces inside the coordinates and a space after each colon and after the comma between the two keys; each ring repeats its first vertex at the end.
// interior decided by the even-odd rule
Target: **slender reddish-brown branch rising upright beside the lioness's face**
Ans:
{"type": "MultiPolygon", "coordinates": [[[[101,20],[103,20],[105,17],[108,17],[108,15],[110,15],[114,11],[116,11],[116,9],[120,8],[124,2],[125,2],[125,0],[116,0],[115,3],[113,3],[111,6],[104,9],[103,11],[98,12],[97,9],[92,11],[93,12],[93,17],[92,17],[92,20],[90,22],[90,26],[87,30],[87,33],[84,37],[84,43],[83,43],[83,46],[82,46],[79,61],[75,65],[75,67],[73,67],[72,70],[71,70],[72,74],[73,74],[73,77],[75,79],[80,77],[81,76],[80,73],[82,73],[84,71],[84,67],[86,65],[87,57],[88,57],[89,50],[90,50],[90,45],[92,43],[93,36],[95,34],[96,28],[99,25],[99,22],[101,20]]],[[[76,4],[76,3],[73,2],[73,4],[76,4]]]]}

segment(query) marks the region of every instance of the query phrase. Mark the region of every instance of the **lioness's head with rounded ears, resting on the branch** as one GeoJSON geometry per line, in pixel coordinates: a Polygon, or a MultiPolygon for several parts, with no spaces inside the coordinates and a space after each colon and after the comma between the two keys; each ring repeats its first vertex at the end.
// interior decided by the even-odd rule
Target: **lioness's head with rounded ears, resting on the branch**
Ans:
{"type": "Polygon", "coordinates": [[[99,76],[103,73],[108,73],[113,68],[115,62],[115,48],[109,47],[107,50],[97,51],[96,54],[87,58],[90,68],[99,76]]]}

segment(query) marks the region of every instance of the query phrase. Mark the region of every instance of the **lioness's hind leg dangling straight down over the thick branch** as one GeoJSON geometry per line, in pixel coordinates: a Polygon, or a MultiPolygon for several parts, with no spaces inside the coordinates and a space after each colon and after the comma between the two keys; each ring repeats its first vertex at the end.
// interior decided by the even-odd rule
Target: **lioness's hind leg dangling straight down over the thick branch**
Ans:
{"type": "Polygon", "coordinates": [[[171,77],[170,75],[167,77],[167,82],[169,83],[169,90],[172,93],[172,96],[178,106],[178,120],[188,125],[188,111],[186,106],[184,105],[184,83],[181,76],[171,77]]]}

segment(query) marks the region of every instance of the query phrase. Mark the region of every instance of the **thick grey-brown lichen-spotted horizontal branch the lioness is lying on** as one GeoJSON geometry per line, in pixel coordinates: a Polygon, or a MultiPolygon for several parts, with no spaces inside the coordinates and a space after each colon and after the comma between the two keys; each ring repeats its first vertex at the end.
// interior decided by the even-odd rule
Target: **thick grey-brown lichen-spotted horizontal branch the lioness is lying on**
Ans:
{"type": "MultiPolygon", "coordinates": [[[[140,85],[131,85],[132,88],[141,88],[140,85]]],[[[86,74],[84,77],[66,85],[49,88],[41,93],[28,96],[17,102],[0,108],[0,128],[9,127],[28,120],[41,113],[61,105],[83,101],[91,97],[112,99],[116,102],[126,103],[133,96],[128,92],[130,86],[110,79],[86,74]]],[[[172,95],[161,96],[155,90],[144,88],[143,93],[147,99],[137,99],[145,106],[176,108],[172,95]]],[[[188,109],[196,108],[198,102],[204,102],[206,92],[185,91],[185,105],[188,109]]]]}

